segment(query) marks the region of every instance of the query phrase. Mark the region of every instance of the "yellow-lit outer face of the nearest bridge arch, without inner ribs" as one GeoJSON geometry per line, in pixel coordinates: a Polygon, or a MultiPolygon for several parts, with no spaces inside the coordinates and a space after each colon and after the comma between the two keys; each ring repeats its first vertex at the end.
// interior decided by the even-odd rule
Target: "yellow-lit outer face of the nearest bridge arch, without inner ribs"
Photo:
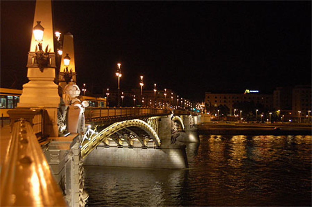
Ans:
{"type": "Polygon", "coordinates": [[[91,139],[86,142],[81,147],[81,156],[85,158],[95,147],[97,147],[101,142],[107,139],[110,135],[120,131],[121,129],[128,127],[138,127],[143,129],[145,132],[149,134],[149,136],[154,140],[157,147],[160,147],[160,139],[155,130],[146,122],[140,119],[131,119],[122,122],[116,122],[109,127],[106,127],[101,132],[91,137],[91,139]]]}

